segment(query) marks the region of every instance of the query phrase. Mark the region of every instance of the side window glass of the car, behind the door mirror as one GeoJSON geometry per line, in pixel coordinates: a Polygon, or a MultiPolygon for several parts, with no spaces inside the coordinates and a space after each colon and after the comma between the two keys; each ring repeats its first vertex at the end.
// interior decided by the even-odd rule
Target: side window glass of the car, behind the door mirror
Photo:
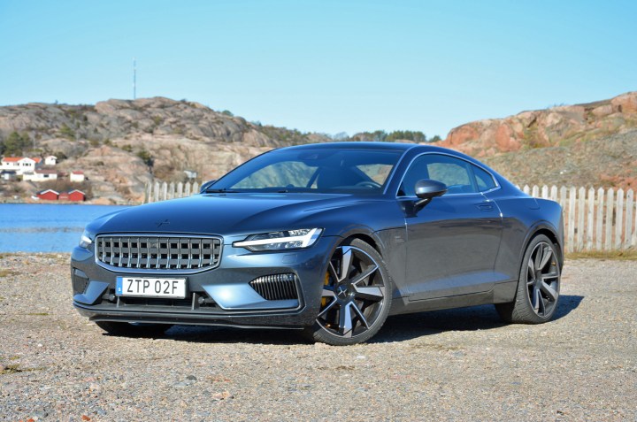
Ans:
{"type": "Polygon", "coordinates": [[[416,182],[422,179],[441,181],[450,195],[473,194],[496,186],[489,173],[468,161],[442,154],[424,154],[411,163],[398,195],[415,196],[416,182]]]}

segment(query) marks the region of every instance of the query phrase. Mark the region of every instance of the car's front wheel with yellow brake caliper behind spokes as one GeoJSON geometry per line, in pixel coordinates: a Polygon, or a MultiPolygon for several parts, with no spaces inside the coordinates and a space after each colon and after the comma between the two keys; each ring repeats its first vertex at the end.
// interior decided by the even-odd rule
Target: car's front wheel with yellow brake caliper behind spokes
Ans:
{"type": "Polygon", "coordinates": [[[347,346],[380,330],[391,308],[392,282],[376,249],[359,239],[334,250],[319,315],[304,334],[311,341],[347,346]]]}

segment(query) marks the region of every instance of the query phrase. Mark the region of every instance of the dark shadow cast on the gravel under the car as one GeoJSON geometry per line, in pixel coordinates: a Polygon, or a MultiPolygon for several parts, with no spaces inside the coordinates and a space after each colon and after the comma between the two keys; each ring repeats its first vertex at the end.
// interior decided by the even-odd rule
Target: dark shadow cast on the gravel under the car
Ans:
{"type": "MultiPolygon", "coordinates": [[[[561,295],[553,320],[566,317],[584,299],[580,295],[561,295]]],[[[472,306],[444,311],[426,311],[389,317],[370,343],[407,341],[445,331],[478,331],[506,326],[493,305],[472,306]]],[[[235,328],[230,326],[173,326],[164,339],[200,343],[248,343],[298,345],[306,343],[300,330],[235,328]]]]}

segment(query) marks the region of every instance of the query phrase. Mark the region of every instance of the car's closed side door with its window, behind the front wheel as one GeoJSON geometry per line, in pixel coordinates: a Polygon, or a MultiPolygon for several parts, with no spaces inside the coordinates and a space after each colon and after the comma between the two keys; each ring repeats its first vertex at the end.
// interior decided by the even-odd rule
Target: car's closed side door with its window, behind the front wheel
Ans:
{"type": "Polygon", "coordinates": [[[483,192],[495,188],[493,176],[459,157],[426,153],[411,163],[398,192],[405,210],[410,301],[494,287],[503,223],[497,204],[483,192]],[[414,186],[421,179],[441,181],[448,191],[414,211],[414,186]]]}

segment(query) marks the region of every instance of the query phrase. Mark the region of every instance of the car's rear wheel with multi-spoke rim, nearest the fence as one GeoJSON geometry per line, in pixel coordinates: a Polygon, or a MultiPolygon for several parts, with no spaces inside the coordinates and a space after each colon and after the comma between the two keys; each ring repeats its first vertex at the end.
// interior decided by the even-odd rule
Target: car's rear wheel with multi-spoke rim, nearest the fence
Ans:
{"type": "Polygon", "coordinates": [[[560,278],[556,246],[547,236],[539,234],[526,247],[515,300],[511,303],[498,303],[495,309],[506,322],[547,322],[557,309],[560,278]]]}

